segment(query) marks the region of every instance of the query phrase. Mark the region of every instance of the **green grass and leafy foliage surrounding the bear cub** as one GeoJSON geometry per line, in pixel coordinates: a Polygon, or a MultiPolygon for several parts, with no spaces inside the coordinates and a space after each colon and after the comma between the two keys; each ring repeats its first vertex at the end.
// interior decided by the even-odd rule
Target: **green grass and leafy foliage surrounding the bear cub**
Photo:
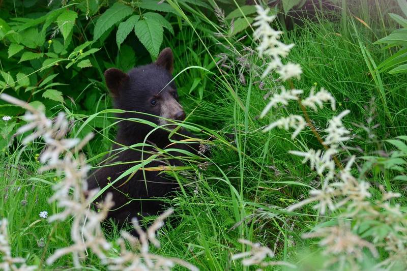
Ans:
{"type": "MultiPolygon", "coordinates": [[[[212,135],[213,141],[206,158],[191,159],[189,170],[170,173],[182,184],[179,195],[169,200],[175,208],[171,220],[177,223],[160,230],[161,248],[152,250],[201,270],[250,269],[240,260],[231,260],[231,255],[247,250],[238,242],[244,238],[271,248],[276,260],[316,270],[324,263],[323,249],[317,239],[303,239],[302,234],[321,223],[335,223],[341,212],[319,216],[312,204],[294,212],[285,210],[322,183],[308,164],[288,151],[321,146],[309,129],[294,140],[287,131],[261,131],[276,120],[273,115],[258,116],[280,82],[277,76],[260,78],[267,59],[258,57],[252,40],[249,23],[255,8],[243,2],[0,2],[0,89],[45,108],[48,117],[65,112],[72,137],[93,132],[95,137],[83,152],[90,164],[97,165],[109,152],[114,124],[119,121],[106,110],[112,105],[104,70],[127,71],[150,63],[160,49],[170,47],[186,123],[197,127],[202,138],[212,135]]],[[[281,12],[290,10],[288,2],[281,12]]],[[[339,112],[351,111],[343,123],[352,139],[341,146],[338,159],[346,164],[349,156],[356,155],[361,176],[370,183],[372,201],[380,197],[383,186],[401,193],[391,203],[400,204],[405,212],[407,146],[400,136],[407,135],[403,64],[407,35],[405,28],[395,30],[398,25],[393,20],[407,27],[402,18],[407,17],[402,13],[405,7],[400,9],[396,1],[337,2],[334,11],[317,11],[314,18],[302,18],[293,29],[286,29],[283,20],[273,27],[284,29],[284,43],[295,43],[288,58],[301,65],[303,74],[293,81],[294,87],[308,95],[313,85],[323,86],[335,97],[339,112]],[[392,35],[398,42],[390,41],[392,35]]],[[[290,88],[288,83],[285,86],[290,88]]],[[[273,114],[287,112],[301,114],[296,103],[273,114]]],[[[21,135],[13,136],[21,126],[22,113],[21,108],[0,102],[0,115],[11,116],[0,121],[0,218],[9,221],[13,255],[43,269],[70,268],[69,256],[52,266],[45,263],[57,248],[70,245],[70,221],[48,223],[39,217],[43,210],[56,213],[48,198],[61,177],[52,171],[37,173],[41,140],[24,146],[21,135]]],[[[321,131],[337,113],[323,109],[308,114],[321,131]]],[[[377,237],[385,243],[387,232],[385,223],[377,223],[374,233],[366,233],[365,238],[371,242],[377,237]]],[[[120,231],[106,234],[113,240],[120,231]]],[[[379,250],[378,258],[367,249],[364,253],[361,269],[389,257],[385,249],[379,250]]],[[[104,268],[93,254],[83,265],[104,268]]]]}

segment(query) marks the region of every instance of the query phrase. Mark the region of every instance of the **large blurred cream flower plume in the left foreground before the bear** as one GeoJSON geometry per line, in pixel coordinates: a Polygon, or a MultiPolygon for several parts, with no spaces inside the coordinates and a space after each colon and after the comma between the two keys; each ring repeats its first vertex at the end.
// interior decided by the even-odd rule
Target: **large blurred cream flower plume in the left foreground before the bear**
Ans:
{"type": "MultiPolygon", "coordinates": [[[[81,268],[81,261],[86,258],[89,250],[91,250],[99,257],[102,264],[106,264],[110,270],[168,270],[171,266],[177,264],[190,270],[197,270],[195,266],[180,259],[165,258],[149,252],[149,242],[159,247],[155,232],[164,224],[163,220],[172,213],[172,210],[159,217],[146,233],[135,223],[136,230],[140,235],[140,249],[138,252],[128,251],[124,245],[124,240],[119,239],[115,242],[122,250],[115,251],[120,255],[114,257],[113,252],[110,251],[112,244],[106,240],[101,227],[101,222],[107,216],[107,210],[113,206],[112,196],[107,194],[104,202],[99,204],[100,212],[90,208],[93,202],[92,199],[96,197],[98,190],[88,190],[86,177],[90,167],[85,163],[83,155],[76,158],[72,153],[73,151],[78,152],[92,138],[92,135],[86,136],[82,141],[79,139],[65,139],[68,122],[64,114],[59,114],[55,122],[52,123],[43,112],[36,110],[23,101],[6,94],[1,94],[0,98],[27,110],[24,115],[27,124],[21,127],[18,132],[34,131],[25,137],[23,142],[27,143],[38,137],[42,137],[45,141],[46,148],[39,159],[40,162],[44,163],[44,166],[40,168],[40,171],[54,169],[61,176],[64,176],[61,182],[52,187],[54,194],[49,198],[50,202],[56,202],[62,212],[52,215],[48,218],[48,221],[65,221],[69,219],[72,223],[71,239],[73,244],[66,248],[57,249],[47,259],[47,264],[52,264],[56,259],[71,254],[75,267],[81,268]]],[[[40,213],[42,218],[47,216],[46,211],[40,213]]],[[[134,237],[127,232],[122,232],[122,236],[129,242],[134,241],[134,237]]]]}

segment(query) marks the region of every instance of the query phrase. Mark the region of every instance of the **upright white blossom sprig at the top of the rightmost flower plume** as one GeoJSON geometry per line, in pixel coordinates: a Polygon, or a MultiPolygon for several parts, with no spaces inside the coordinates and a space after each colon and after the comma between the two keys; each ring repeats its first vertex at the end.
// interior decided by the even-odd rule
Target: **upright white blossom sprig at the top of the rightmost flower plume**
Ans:
{"type": "Polygon", "coordinates": [[[325,138],[324,144],[337,145],[340,142],[351,139],[351,137],[348,136],[351,132],[346,130],[342,124],[342,118],[350,112],[350,110],[344,110],[329,121],[328,128],[325,129],[328,135],[325,138]]]}

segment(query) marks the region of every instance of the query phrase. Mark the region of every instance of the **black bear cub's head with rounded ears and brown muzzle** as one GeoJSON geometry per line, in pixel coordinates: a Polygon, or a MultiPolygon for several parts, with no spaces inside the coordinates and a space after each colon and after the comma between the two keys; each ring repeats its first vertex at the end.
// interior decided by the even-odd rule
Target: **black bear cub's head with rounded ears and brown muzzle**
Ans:
{"type": "MultiPolygon", "coordinates": [[[[157,125],[168,124],[165,119],[184,120],[185,112],[178,100],[177,87],[171,81],[173,61],[171,49],[165,48],[155,63],[136,67],[128,73],[115,68],[105,71],[106,85],[115,108],[147,113],[125,113],[121,117],[142,118],[157,125]]],[[[126,123],[126,129],[131,129],[130,122],[126,123]]]]}

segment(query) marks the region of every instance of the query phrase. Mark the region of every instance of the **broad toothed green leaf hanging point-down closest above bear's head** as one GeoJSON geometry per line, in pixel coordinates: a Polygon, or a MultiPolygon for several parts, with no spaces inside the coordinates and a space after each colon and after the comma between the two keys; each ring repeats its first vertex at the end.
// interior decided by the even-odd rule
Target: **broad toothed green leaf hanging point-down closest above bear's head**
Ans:
{"type": "Polygon", "coordinates": [[[153,57],[157,57],[163,40],[164,29],[156,20],[140,20],[134,27],[134,32],[140,42],[153,57]]]}

